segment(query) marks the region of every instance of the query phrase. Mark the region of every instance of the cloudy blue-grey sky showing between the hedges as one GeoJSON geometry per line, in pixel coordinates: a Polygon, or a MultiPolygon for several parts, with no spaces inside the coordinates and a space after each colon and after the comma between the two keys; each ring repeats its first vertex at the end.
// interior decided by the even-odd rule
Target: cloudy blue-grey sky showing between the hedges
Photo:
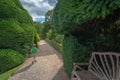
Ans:
{"type": "Polygon", "coordinates": [[[23,7],[32,16],[33,21],[44,22],[45,13],[55,7],[57,0],[20,0],[23,7]]]}

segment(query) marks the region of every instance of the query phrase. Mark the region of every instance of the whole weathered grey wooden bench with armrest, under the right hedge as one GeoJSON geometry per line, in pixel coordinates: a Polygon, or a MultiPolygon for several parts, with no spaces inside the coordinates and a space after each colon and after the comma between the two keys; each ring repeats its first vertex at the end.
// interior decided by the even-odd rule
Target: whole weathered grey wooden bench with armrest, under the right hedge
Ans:
{"type": "Polygon", "coordinates": [[[120,53],[93,52],[89,63],[74,63],[71,80],[120,80],[120,53]]]}

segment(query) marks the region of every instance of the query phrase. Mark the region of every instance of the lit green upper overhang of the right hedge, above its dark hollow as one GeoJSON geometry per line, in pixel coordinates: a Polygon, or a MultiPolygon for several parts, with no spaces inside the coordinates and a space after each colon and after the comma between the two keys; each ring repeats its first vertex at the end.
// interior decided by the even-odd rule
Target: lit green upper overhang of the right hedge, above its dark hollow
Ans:
{"type": "Polygon", "coordinates": [[[120,0],[59,0],[53,13],[54,27],[66,34],[91,20],[104,19],[119,8],[120,0]]]}

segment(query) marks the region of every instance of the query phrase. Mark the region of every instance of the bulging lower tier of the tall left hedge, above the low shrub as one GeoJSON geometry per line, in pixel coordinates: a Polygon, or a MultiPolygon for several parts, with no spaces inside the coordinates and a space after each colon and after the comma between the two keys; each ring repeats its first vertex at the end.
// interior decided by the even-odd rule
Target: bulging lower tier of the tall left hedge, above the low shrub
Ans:
{"type": "Polygon", "coordinates": [[[23,54],[27,53],[34,41],[33,37],[34,31],[32,26],[27,24],[19,25],[15,20],[0,21],[1,49],[11,48],[23,54]]]}

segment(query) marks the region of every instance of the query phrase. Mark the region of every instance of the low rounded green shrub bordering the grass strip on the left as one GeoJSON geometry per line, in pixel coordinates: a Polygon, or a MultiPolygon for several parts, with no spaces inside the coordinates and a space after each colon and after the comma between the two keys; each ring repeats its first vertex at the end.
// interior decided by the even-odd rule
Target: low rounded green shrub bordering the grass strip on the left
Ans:
{"type": "Polygon", "coordinates": [[[24,61],[24,57],[17,51],[11,49],[0,50],[0,73],[18,66],[24,61]]]}

